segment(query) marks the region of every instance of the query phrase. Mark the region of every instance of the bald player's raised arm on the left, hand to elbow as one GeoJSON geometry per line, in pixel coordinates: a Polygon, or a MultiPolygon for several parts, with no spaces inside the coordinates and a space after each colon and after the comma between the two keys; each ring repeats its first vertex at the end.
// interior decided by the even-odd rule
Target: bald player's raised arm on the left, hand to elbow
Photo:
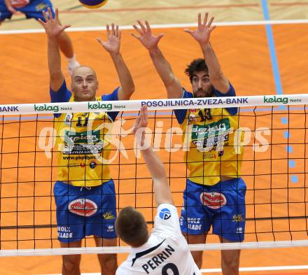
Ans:
{"type": "Polygon", "coordinates": [[[69,25],[62,26],[59,23],[59,10],[55,9],[55,18],[52,18],[50,8],[48,8],[48,15],[43,10],[45,22],[38,19],[43,25],[45,33],[48,38],[48,69],[50,75],[50,88],[57,92],[62,86],[64,81],[64,75],[61,71],[61,56],[59,52],[59,35],[64,29],[70,27],[69,25]]]}

